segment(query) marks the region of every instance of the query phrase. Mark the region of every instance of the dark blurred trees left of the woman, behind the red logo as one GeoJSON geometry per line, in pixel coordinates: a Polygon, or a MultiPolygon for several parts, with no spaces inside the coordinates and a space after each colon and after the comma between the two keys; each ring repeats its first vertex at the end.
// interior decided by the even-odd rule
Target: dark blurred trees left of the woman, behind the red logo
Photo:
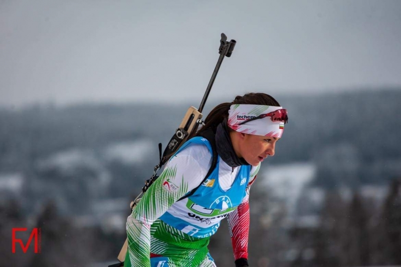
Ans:
{"type": "MultiPolygon", "coordinates": [[[[25,203],[25,205],[29,203],[25,203]]],[[[21,212],[18,200],[0,203],[0,266],[79,266],[116,258],[125,235],[105,232],[100,227],[76,227],[73,217],[61,216],[54,202],[49,201],[37,216],[21,212]],[[12,253],[12,228],[26,227],[16,237],[27,245],[33,228],[41,228],[41,251],[34,253],[34,240],[26,253],[19,243],[12,253]]]]}

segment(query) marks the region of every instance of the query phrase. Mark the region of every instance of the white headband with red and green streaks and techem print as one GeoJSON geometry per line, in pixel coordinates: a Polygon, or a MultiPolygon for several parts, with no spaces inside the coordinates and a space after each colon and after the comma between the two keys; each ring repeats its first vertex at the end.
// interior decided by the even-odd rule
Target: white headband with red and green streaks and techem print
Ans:
{"type": "Polygon", "coordinates": [[[279,109],[282,109],[282,107],[248,104],[231,105],[227,123],[236,132],[281,138],[284,131],[284,122],[272,121],[269,116],[239,125],[246,120],[279,109]]]}

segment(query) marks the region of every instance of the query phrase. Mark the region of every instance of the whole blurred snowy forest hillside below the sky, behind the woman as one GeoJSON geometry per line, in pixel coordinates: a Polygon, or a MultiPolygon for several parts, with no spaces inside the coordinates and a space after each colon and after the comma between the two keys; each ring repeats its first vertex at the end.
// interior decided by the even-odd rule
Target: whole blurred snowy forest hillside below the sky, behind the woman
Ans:
{"type": "MultiPolygon", "coordinates": [[[[401,265],[401,90],[275,97],[289,123],[251,189],[251,266],[401,265]],[[269,182],[293,163],[313,169],[299,194],[295,169],[269,182]]],[[[0,109],[0,266],[116,263],[129,202],[190,105],[0,109]],[[13,227],[40,227],[41,253],[12,253],[13,227]]],[[[225,221],[210,250],[234,265],[225,221]]]]}

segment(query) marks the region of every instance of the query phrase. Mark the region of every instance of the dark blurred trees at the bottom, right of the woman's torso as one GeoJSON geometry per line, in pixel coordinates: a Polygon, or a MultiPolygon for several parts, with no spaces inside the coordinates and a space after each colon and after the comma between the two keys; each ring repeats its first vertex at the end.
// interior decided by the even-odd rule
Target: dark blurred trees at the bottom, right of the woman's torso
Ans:
{"type": "MultiPolygon", "coordinates": [[[[254,188],[255,189],[255,188],[254,188]]],[[[285,209],[267,221],[265,192],[251,193],[250,266],[346,267],[401,265],[401,179],[394,179],[381,204],[357,190],[350,200],[327,190],[317,227],[288,227],[285,209]]],[[[210,250],[218,266],[233,266],[226,223],[212,237],[210,250]]]]}

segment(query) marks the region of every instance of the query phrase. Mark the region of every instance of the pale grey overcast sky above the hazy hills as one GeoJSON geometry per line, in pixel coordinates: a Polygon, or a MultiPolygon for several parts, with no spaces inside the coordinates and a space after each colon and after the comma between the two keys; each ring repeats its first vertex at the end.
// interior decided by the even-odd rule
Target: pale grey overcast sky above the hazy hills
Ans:
{"type": "Polygon", "coordinates": [[[401,1],[1,0],[0,105],[401,88],[401,1]]]}

